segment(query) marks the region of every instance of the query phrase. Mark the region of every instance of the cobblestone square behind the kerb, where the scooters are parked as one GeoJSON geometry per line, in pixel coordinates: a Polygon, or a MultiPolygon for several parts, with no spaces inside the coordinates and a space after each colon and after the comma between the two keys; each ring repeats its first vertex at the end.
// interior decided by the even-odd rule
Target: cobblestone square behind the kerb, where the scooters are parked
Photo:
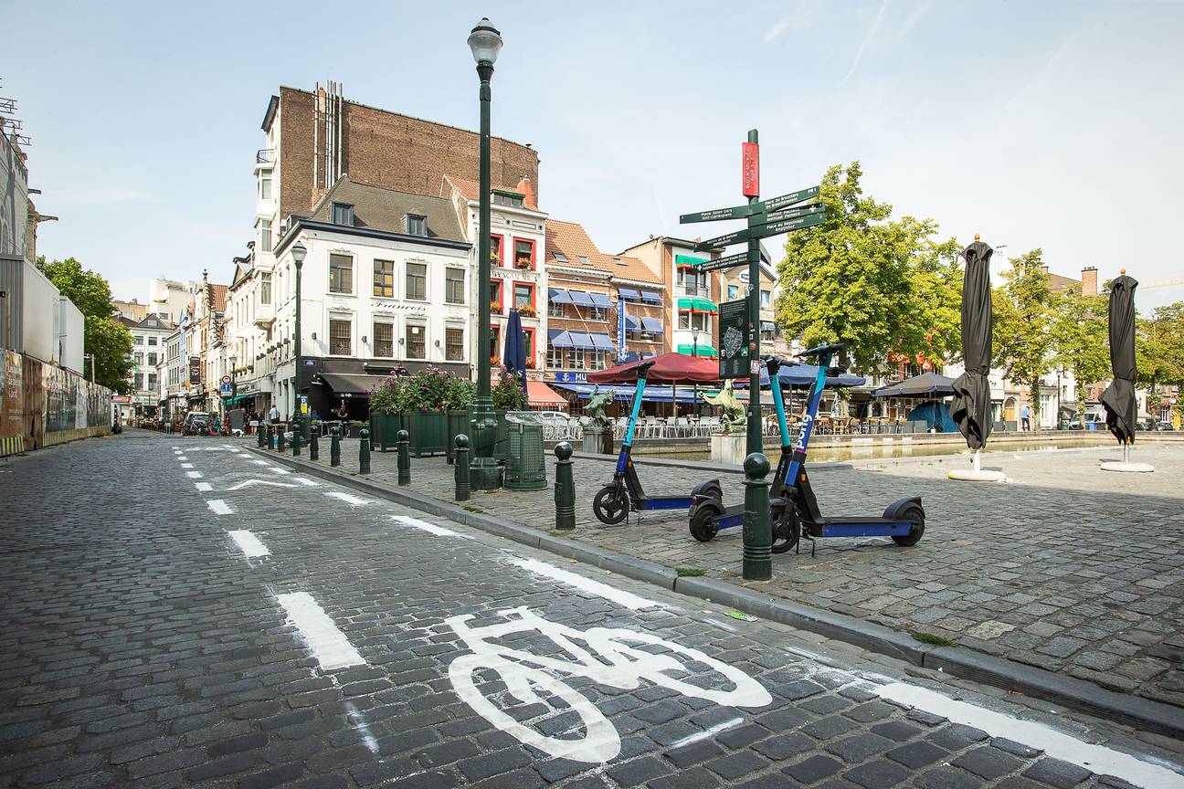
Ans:
{"type": "MultiPolygon", "coordinates": [[[[358,442],[343,468],[358,467],[358,442]]],[[[324,453],[327,457],[328,453],[324,453]]],[[[982,652],[1184,705],[1184,444],[1139,445],[1152,474],[1101,472],[1117,448],[984,454],[1008,484],[955,483],[966,455],[819,465],[812,473],[823,513],[879,515],[920,496],[922,541],[819,541],[817,555],[774,557],[768,594],[957,641],[982,652]]],[[[373,477],[395,483],[393,452],[372,455],[373,477]]],[[[548,479],[554,480],[553,466],[548,479]]],[[[689,491],[706,471],[639,465],[651,493],[689,491]]],[[[742,502],[739,474],[719,474],[725,499],[742,502]]],[[[577,459],[574,537],[674,568],[740,580],[741,535],[699,543],[686,511],[642,513],[638,525],[604,526],[591,502],[611,464],[577,459]]],[[[451,499],[452,466],[412,459],[412,490],[451,499]]],[[[551,489],[475,493],[482,511],[540,529],[554,525],[551,489]]]]}

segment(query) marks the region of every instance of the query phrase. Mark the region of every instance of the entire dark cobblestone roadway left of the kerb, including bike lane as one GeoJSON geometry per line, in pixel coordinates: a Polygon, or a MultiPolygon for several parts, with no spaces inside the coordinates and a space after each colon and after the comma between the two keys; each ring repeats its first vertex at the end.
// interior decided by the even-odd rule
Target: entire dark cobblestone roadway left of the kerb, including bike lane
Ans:
{"type": "Polygon", "coordinates": [[[1184,785],[1182,743],[234,446],[129,429],[0,463],[0,784],[1184,785]]]}

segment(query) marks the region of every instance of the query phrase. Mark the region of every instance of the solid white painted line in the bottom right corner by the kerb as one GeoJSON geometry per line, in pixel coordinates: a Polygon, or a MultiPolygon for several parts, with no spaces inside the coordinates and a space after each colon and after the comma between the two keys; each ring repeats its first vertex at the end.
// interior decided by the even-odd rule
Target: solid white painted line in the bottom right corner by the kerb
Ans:
{"type": "Polygon", "coordinates": [[[941,693],[908,685],[889,683],[873,688],[881,698],[906,704],[925,712],[939,714],[954,723],[982,729],[991,737],[1006,737],[1044,751],[1053,758],[1072,762],[1099,775],[1113,775],[1144,789],[1179,789],[1184,776],[1165,767],[1144,762],[1103,745],[1085,743],[1069,735],[1032,720],[1022,720],[1002,712],[986,710],[966,701],[958,701],[941,693]]]}

